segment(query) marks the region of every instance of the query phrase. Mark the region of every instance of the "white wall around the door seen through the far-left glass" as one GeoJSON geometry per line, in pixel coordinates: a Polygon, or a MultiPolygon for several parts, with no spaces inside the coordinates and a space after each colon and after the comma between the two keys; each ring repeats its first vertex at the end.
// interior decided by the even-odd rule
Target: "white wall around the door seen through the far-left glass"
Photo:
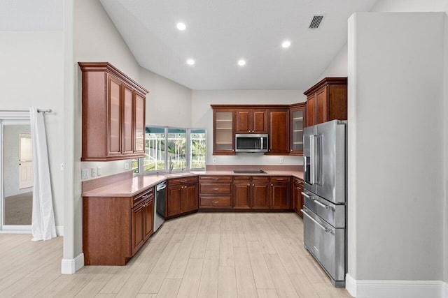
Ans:
{"type": "Polygon", "coordinates": [[[19,165],[20,140],[19,133],[31,133],[29,125],[5,125],[3,126],[3,195],[18,195],[19,193],[29,193],[33,188],[19,189],[19,165]]]}

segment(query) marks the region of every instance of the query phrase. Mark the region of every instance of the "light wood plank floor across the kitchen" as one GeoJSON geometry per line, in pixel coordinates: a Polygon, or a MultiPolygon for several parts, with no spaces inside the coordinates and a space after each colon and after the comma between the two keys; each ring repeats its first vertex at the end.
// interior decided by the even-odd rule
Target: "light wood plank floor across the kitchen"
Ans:
{"type": "Polygon", "coordinates": [[[62,238],[0,234],[0,297],[351,297],[303,248],[293,213],[166,221],[125,267],[60,274],[62,238]]]}

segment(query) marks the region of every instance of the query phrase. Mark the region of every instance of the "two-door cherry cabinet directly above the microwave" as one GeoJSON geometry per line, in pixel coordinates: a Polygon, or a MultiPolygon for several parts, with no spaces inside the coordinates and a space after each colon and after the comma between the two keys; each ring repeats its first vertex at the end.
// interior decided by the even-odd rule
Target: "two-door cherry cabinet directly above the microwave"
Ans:
{"type": "Polygon", "coordinates": [[[235,110],[235,133],[267,133],[267,112],[265,109],[235,110]]]}

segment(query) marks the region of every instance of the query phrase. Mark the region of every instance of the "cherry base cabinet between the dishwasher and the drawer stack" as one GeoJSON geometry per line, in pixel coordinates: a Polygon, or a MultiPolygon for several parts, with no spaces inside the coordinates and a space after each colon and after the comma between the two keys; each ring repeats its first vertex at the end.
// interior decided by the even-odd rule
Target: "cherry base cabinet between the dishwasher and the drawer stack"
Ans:
{"type": "Polygon", "coordinates": [[[197,177],[167,180],[167,218],[186,214],[198,209],[197,177]]]}

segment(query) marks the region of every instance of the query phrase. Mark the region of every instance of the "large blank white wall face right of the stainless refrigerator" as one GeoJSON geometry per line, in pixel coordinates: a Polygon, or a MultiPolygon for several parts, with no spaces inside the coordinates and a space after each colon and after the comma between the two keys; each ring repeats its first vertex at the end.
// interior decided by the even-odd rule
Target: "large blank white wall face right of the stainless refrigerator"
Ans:
{"type": "Polygon", "coordinates": [[[442,280],[445,17],[349,19],[348,273],[356,280],[442,280]]]}

